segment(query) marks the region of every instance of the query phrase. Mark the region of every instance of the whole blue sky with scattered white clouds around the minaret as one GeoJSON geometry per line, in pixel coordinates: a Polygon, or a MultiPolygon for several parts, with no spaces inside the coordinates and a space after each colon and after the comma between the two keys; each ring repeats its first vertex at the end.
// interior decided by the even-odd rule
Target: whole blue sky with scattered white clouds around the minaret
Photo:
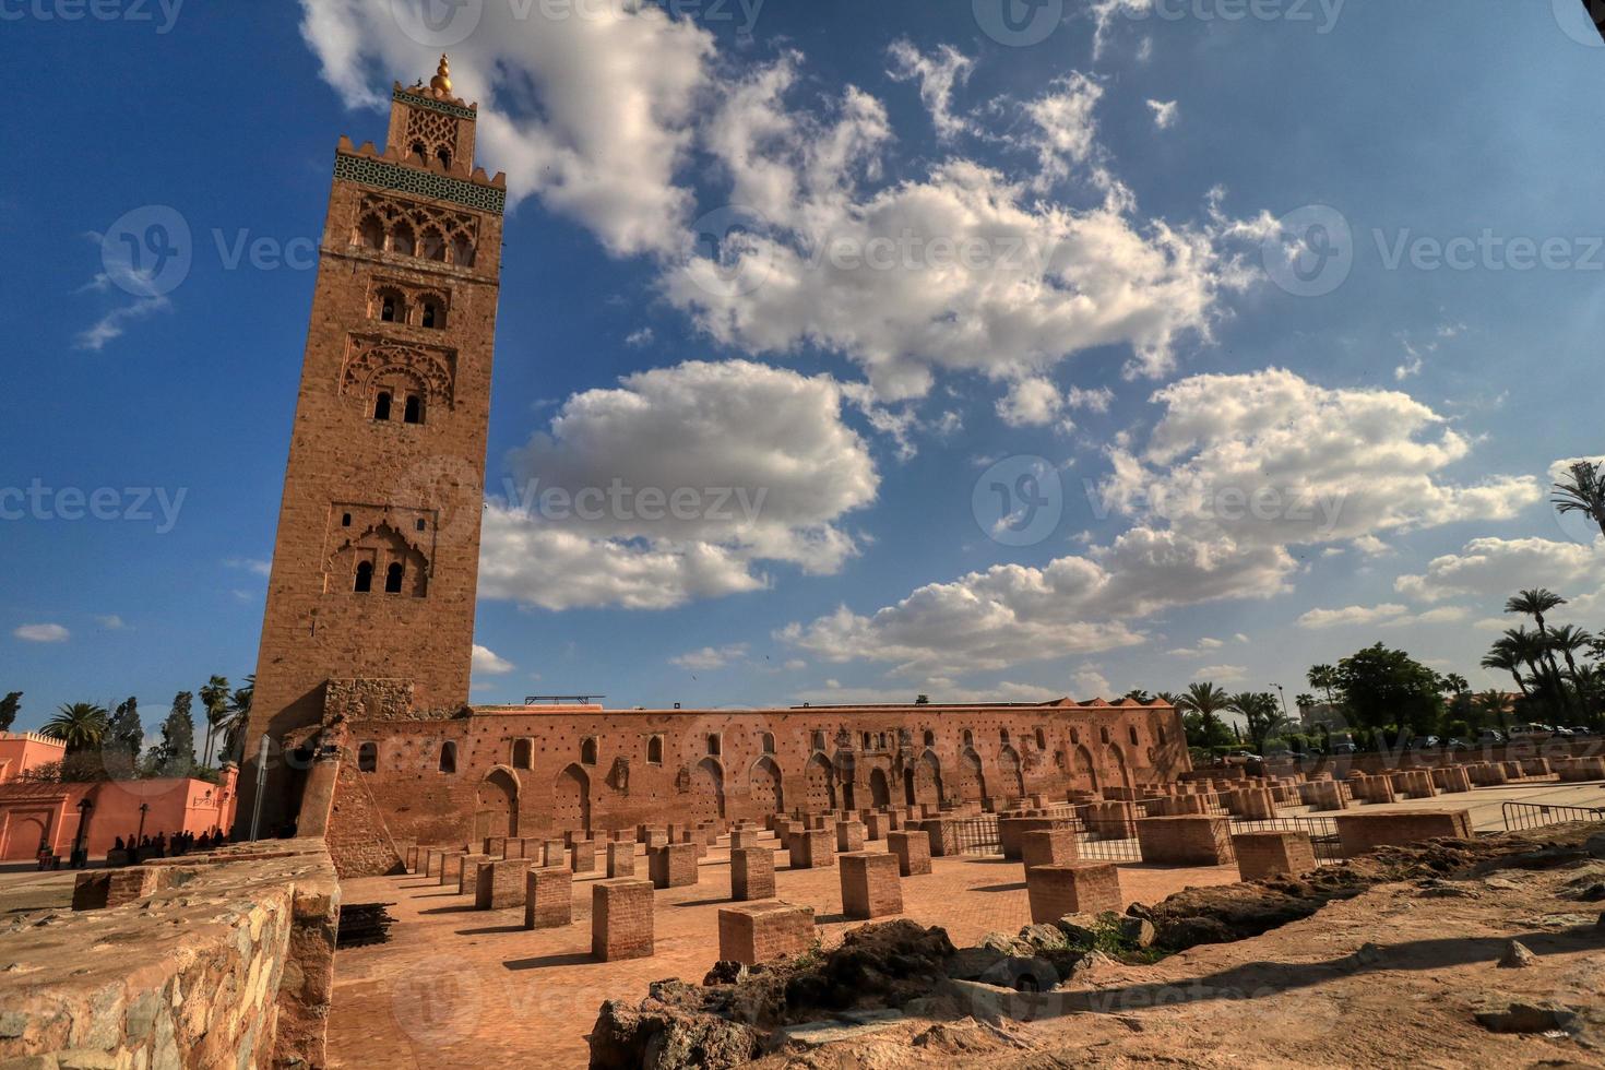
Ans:
{"type": "Polygon", "coordinates": [[[1544,501],[1600,452],[1581,5],[1066,0],[1005,43],[990,0],[554,3],[5,8],[21,727],[254,669],[334,144],[446,43],[515,199],[475,701],[1292,695],[1379,640],[1494,685],[1517,586],[1600,624],[1544,501]],[[117,237],[175,217],[141,294],[117,237]],[[764,499],[575,523],[509,476],[764,499]],[[1063,489],[1014,533],[992,483],[1063,489]]]}

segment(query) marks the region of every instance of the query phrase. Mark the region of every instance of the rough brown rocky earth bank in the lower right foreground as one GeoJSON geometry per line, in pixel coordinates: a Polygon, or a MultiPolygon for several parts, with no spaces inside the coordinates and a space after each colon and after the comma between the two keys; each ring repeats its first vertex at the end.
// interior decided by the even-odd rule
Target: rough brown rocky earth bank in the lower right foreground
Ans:
{"type": "Polygon", "coordinates": [[[910,921],[603,1004],[592,1067],[1605,1067],[1605,829],[1435,841],[955,948],[910,921]]]}

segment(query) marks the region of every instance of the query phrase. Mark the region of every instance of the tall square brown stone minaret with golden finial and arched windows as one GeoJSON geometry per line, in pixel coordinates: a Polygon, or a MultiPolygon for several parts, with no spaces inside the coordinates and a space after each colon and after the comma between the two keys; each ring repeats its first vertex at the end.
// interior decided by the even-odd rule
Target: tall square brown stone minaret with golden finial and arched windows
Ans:
{"type": "MultiPolygon", "coordinates": [[[[477,104],[446,58],[396,83],[382,152],[340,138],[284,473],[241,772],[247,833],[294,818],[281,751],[323,720],[327,680],[387,682],[419,711],[469,699],[491,348],[507,183],[473,165],[477,104]]],[[[376,711],[377,712],[377,711],[376,711]]]]}

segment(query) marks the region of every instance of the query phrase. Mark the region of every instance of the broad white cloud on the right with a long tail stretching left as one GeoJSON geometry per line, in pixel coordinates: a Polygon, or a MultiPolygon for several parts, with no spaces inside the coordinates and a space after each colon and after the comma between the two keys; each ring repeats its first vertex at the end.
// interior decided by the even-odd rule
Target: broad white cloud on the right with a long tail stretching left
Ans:
{"type": "MultiPolygon", "coordinates": [[[[780,638],[827,659],[905,671],[1000,669],[1132,646],[1148,638],[1140,622],[1165,610],[1289,590],[1298,573],[1294,545],[1504,518],[1539,496],[1528,478],[1470,488],[1443,480],[1469,444],[1400,393],[1326,390],[1273,369],[1197,375],[1154,401],[1164,414],[1146,444],[1111,451],[1114,475],[1103,491],[1132,518],[1112,542],[1040,568],[998,565],[928,584],[873,613],[841,606],[788,626],[780,638]],[[1242,501],[1228,499],[1229,489],[1242,501]],[[1257,489],[1276,491],[1274,502],[1262,502],[1279,507],[1255,509],[1257,489]],[[1323,502],[1335,507],[1323,510],[1323,502]]],[[[1305,626],[1395,610],[1408,614],[1404,606],[1318,610],[1305,626]]],[[[1196,653],[1204,650],[1213,646],[1196,653]]]]}

